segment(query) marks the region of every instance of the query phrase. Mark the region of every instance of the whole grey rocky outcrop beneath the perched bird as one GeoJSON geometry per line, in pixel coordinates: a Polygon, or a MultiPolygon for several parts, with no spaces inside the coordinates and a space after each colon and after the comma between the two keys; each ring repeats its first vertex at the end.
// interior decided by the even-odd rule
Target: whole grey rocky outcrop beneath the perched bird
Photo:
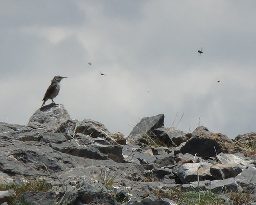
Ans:
{"type": "MultiPolygon", "coordinates": [[[[125,137],[91,119],[70,119],[63,105],[47,105],[28,126],[0,123],[0,147],[1,184],[43,180],[51,187],[25,191],[20,201],[30,204],[175,205],[154,196],[173,187],[256,196],[253,155],[234,153],[232,140],[206,127],[164,127],[163,114],[144,117],[125,137]]],[[[2,194],[2,203],[15,197],[11,189],[2,194]]]]}

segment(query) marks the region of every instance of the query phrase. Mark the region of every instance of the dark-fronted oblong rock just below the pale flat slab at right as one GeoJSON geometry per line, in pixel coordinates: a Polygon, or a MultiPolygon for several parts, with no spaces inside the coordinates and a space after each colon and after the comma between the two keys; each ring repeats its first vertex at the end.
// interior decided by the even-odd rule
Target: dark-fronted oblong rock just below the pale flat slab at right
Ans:
{"type": "Polygon", "coordinates": [[[214,164],[210,167],[210,173],[214,179],[228,179],[236,177],[242,169],[236,164],[214,164]]]}

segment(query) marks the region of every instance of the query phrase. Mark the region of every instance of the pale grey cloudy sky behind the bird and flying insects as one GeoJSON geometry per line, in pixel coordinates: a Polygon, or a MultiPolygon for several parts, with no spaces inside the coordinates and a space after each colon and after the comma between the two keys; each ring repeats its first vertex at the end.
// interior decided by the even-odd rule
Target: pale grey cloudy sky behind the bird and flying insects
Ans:
{"type": "Polygon", "coordinates": [[[54,101],[112,133],[159,113],[187,132],[256,131],[255,11],[255,0],[2,0],[0,121],[27,124],[61,75],[54,101]]]}

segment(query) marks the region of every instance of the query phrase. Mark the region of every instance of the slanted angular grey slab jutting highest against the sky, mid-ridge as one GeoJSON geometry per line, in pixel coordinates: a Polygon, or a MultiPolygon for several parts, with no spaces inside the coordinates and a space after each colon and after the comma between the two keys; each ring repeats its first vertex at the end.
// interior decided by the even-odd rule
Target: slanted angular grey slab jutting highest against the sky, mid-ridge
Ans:
{"type": "Polygon", "coordinates": [[[137,123],[130,134],[129,139],[138,140],[145,135],[154,135],[155,129],[164,126],[164,114],[159,114],[152,117],[143,117],[139,123],[137,123]]]}

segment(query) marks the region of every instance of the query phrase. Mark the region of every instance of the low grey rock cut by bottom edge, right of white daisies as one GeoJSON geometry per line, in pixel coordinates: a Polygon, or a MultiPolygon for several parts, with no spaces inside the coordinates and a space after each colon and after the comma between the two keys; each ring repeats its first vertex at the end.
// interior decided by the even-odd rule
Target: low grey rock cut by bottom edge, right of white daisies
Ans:
{"type": "Polygon", "coordinates": [[[149,196],[141,201],[134,201],[130,205],[177,205],[174,201],[166,198],[158,198],[155,196],[149,196]]]}

